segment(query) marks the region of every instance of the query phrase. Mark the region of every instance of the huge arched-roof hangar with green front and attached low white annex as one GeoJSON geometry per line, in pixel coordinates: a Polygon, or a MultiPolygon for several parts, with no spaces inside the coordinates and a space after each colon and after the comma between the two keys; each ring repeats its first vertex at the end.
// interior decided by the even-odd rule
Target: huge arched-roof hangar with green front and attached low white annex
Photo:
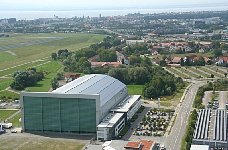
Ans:
{"type": "Polygon", "coordinates": [[[97,133],[107,140],[118,135],[141,101],[119,80],[91,74],[52,92],[23,92],[20,104],[25,132],[97,133]]]}

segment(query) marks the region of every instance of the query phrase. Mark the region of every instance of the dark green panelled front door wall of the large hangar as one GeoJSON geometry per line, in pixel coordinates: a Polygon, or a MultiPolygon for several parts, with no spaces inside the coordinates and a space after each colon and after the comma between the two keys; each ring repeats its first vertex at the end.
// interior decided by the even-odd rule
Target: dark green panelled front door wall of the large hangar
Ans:
{"type": "Polygon", "coordinates": [[[23,97],[24,130],[96,133],[96,100],[23,97]]]}

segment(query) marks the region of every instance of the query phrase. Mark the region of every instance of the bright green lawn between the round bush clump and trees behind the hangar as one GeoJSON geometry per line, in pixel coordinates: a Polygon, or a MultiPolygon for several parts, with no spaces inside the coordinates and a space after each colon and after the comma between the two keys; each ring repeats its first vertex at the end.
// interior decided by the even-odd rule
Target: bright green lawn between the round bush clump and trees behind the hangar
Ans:
{"type": "Polygon", "coordinates": [[[51,88],[51,80],[53,77],[57,74],[58,71],[61,72],[62,65],[58,61],[52,61],[50,63],[47,63],[45,65],[37,67],[38,71],[45,71],[47,72],[47,75],[45,75],[45,78],[38,82],[33,87],[27,87],[27,91],[29,92],[47,92],[51,88]]]}

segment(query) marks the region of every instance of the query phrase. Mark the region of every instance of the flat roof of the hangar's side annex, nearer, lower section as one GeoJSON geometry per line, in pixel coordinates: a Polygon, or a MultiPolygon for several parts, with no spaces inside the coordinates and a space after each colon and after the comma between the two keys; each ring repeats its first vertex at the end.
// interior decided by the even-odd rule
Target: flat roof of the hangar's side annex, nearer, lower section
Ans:
{"type": "Polygon", "coordinates": [[[124,115],[124,113],[109,113],[103,120],[102,122],[97,126],[100,128],[111,128],[113,127],[118,120],[124,115]]]}

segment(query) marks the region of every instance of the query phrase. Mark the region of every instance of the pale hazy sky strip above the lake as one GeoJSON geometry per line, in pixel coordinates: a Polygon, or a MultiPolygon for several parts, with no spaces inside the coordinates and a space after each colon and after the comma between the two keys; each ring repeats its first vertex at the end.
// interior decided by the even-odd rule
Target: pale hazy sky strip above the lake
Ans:
{"type": "Polygon", "coordinates": [[[0,0],[0,10],[78,10],[222,6],[227,0],[0,0]]]}

